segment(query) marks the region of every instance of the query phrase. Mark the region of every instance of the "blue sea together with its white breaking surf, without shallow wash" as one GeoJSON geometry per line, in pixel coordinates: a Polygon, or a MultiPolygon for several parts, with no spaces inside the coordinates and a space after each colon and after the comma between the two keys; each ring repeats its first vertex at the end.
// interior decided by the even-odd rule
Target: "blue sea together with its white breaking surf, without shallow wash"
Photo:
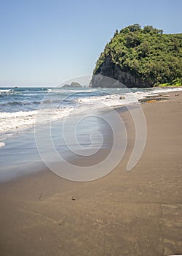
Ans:
{"type": "MultiPolygon", "coordinates": [[[[95,88],[5,88],[0,87],[0,143],[31,128],[39,108],[55,108],[54,118],[60,119],[77,113],[129,104],[147,94],[171,89],[95,89],[95,88]],[[119,99],[124,95],[124,100],[119,99]]],[[[2,144],[1,144],[2,145],[2,144]]]]}

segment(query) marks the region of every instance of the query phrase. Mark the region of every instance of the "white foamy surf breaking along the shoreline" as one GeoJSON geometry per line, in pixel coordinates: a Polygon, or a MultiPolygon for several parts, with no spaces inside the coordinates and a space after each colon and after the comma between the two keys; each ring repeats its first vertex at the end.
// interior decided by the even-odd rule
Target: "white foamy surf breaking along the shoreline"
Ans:
{"type": "MultiPolygon", "coordinates": [[[[0,90],[0,91],[7,91],[10,92],[10,89],[7,90],[0,90]]],[[[78,90],[79,91],[79,90],[78,90]]],[[[90,89],[90,92],[97,91],[96,89],[90,89]]],[[[121,105],[132,104],[138,101],[143,97],[151,94],[160,94],[164,92],[170,91],[182,91],[181,88],[178,89],[151,89],[150,91],[146,89],[146,91],[135,91],[135,92],[125,92],[117,90],[115,94],[108,94],[102,96],[90,96],[88,97],[80,97],[79,99],[74,99],[76,102],[76,108],[73,105],[68,105],[65,108],[55,108],[54,110],[46,108],[41,110],[43,112],[41,118],[39,120],[36,119],[36,115],[39,110],[31,110],[31,111],[18,111],[14,113],[7,113],[7,112],[0,112],[0,140],[6,139],[4,134],[8,133],[15,133],[23,129],[27,129],[33,127],[33,125],[41,124],[47,121],[52,121],[66,118],[71,114],[78,114],[88,110],[99,110],[102,108],[112,108],[112,107],[119,107],[121,105]],[[119,99],[120,96],[123,96],[123,99],[119,99]],[[74,110],[74,111],[73,111],[74,110]]],[[[74,91],[73,93],[76,93],[74,91]]],[[[81,91],[84,92],[84,91],[81,91]]],[[[88,91],[87,91],[88,92],[88,91]]],[[[99,94],[99,91],[98,91],[99,94]]]]}

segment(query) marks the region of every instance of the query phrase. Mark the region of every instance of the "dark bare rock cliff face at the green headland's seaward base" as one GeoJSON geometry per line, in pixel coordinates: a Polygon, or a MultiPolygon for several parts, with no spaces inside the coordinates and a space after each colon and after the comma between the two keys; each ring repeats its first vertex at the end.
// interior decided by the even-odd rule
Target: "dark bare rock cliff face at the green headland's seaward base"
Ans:
{"type": "Polygon", "coordinates": [[[103,64],[100,65],[99,69],[95,72],[96,76],[92,77],[91,86],[92,87],[151,87],[152,84],[149,81],[142,80],[138,77],[138,75],[133,75],[130,70],[123,71],[119,66],[114,64],[111,61],[110,57],[106,57],[106,60],[103,64]],[[97,75],[103,75],[108,78],[114,78],[114,80],[118,80],[120,83],[116,83],[116,81],[111,82],[111,80],[103,79],[102,81],[97,79],[97,75]]]}

